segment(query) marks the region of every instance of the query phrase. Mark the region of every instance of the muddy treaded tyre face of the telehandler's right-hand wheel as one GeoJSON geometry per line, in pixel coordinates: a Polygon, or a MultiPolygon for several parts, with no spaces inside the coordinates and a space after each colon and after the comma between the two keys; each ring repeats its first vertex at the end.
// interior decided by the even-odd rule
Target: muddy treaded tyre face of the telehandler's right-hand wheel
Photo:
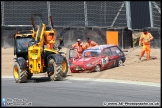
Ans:
{"type": "Polygon", "coordinates": [[[50,71],[48,72],[48,77],[51,81],[58,81],[62,79],[62,64],[56,64],[54,59],[50,59],[48,61],[48,68],[50,71]]]}

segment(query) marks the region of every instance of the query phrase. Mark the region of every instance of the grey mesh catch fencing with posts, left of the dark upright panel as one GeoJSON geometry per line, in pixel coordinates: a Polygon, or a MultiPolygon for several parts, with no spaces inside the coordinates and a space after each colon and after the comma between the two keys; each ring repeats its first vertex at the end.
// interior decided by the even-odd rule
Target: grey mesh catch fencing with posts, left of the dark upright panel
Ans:
{"type": "Polygon", "coordinates": [[[46,25],[52,15],[55,26],[127,26],[124,1],[1,1],[2,25],[38,24],[38,15],[46,25]]]}

